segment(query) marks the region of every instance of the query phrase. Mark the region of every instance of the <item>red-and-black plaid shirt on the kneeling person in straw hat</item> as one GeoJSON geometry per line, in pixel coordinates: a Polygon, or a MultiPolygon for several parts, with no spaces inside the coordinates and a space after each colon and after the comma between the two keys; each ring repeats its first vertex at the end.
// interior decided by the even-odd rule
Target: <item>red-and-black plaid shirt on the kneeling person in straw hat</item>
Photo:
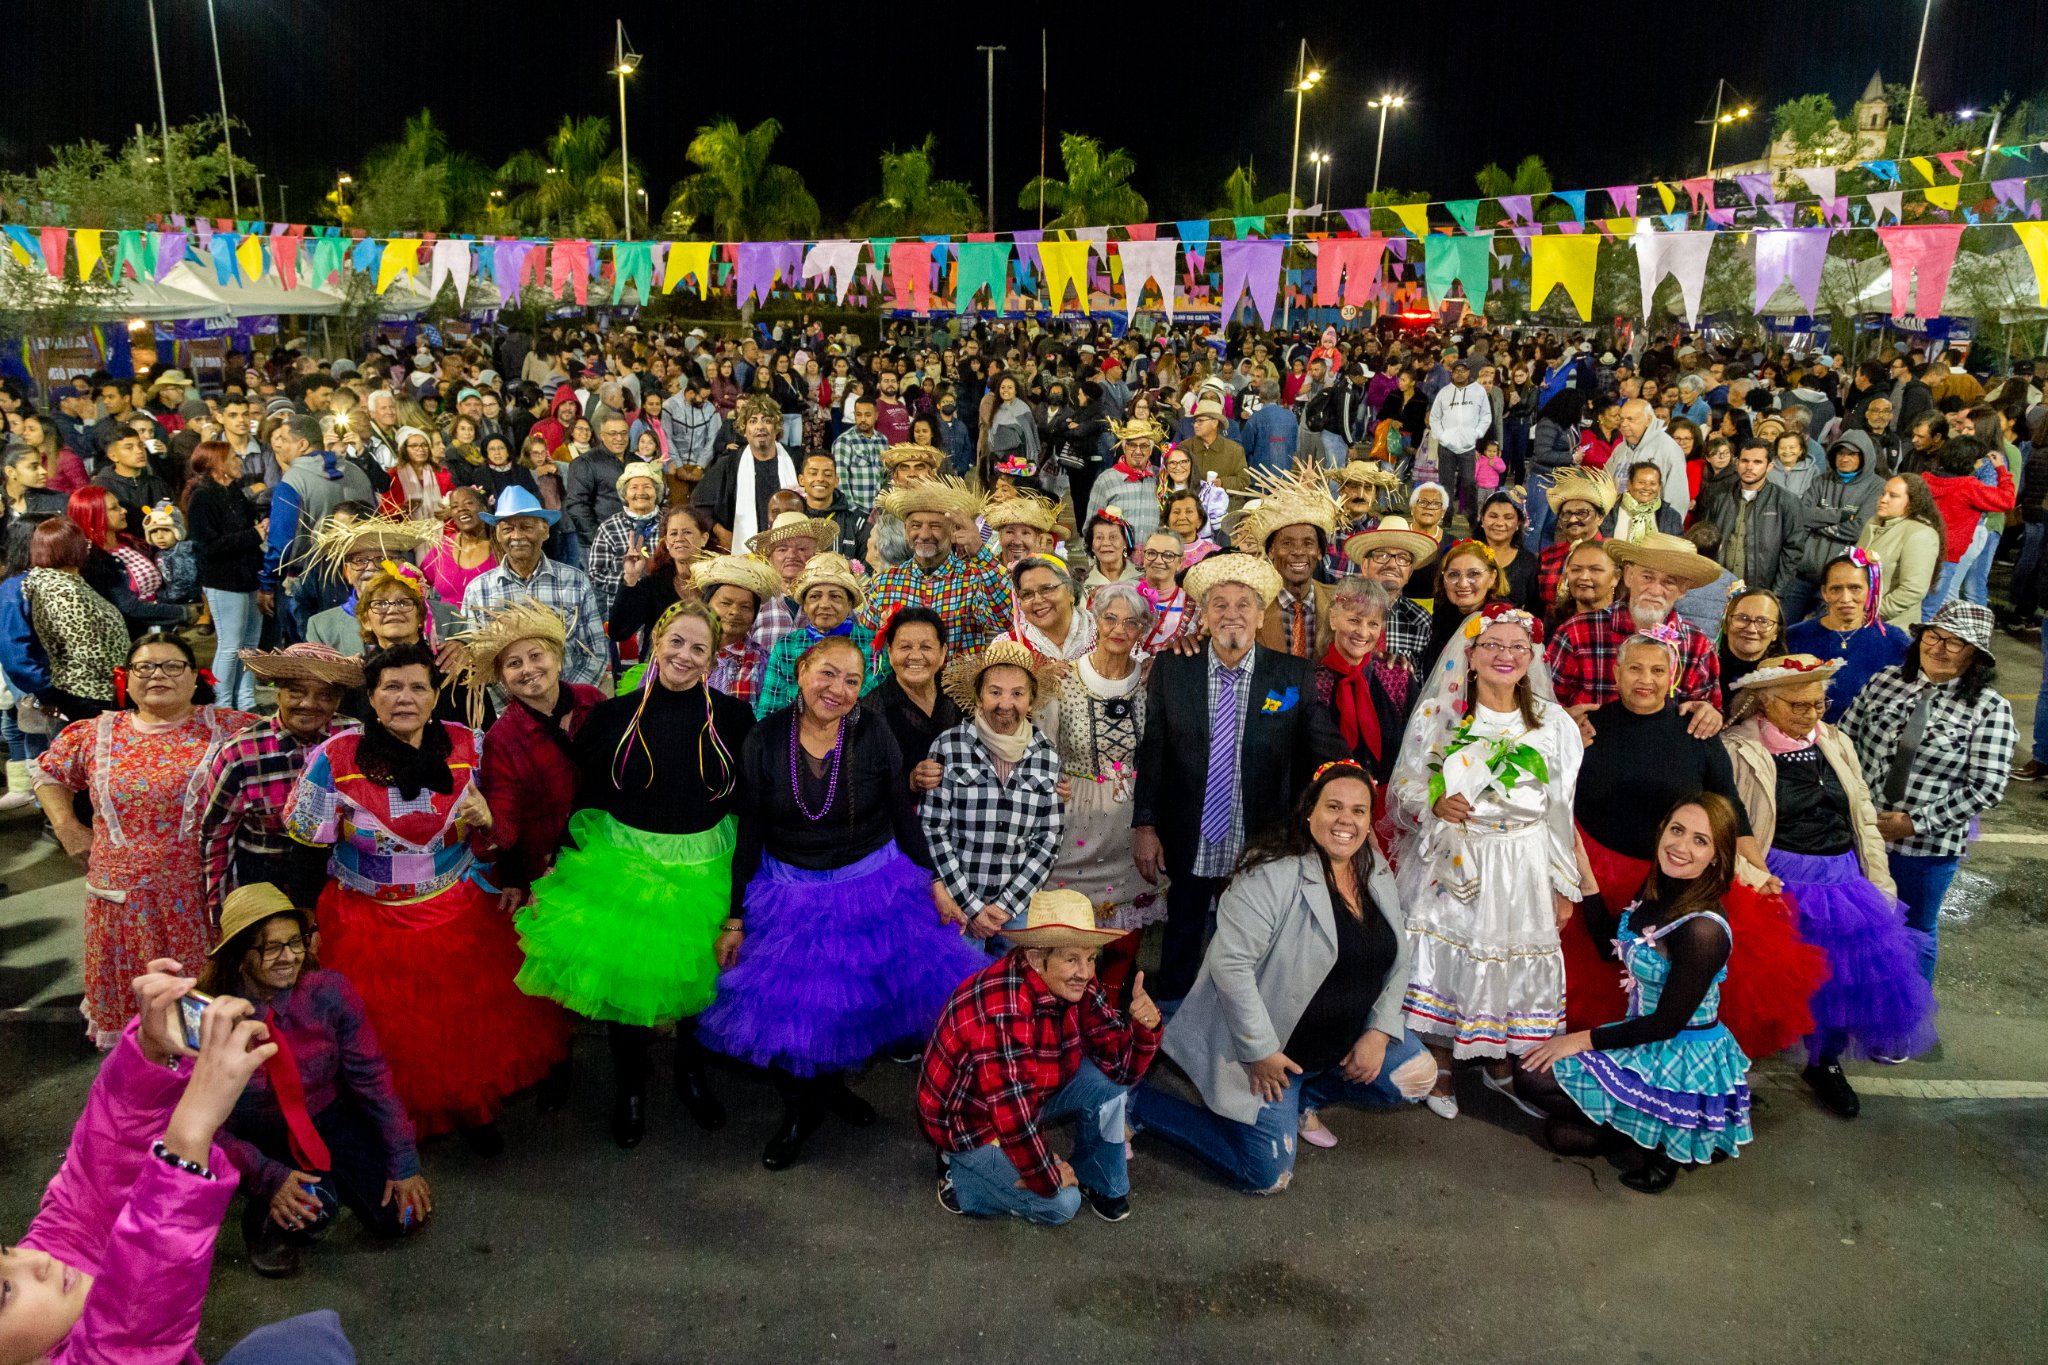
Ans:
{"type": "Polygon", "coordinates": [[[1116,1013],[1100,984],[1069,1005],[1018,950],[946,1001],[918,1072],[918,1119],[940,1152],[999,1146],[1024,1183],[1051,1197],[1059,1166],[1038,1132],[1047,1101],[1083,1060],[1116,1085],[1137,1085],[1157,1050],[1159,1033],[1116,1013]]]}

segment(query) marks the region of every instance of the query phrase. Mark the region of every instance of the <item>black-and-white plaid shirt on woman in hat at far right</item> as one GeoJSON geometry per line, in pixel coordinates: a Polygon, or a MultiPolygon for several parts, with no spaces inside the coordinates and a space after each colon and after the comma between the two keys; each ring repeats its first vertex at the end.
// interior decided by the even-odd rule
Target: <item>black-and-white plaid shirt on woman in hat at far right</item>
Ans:
{"type": "Polygon", "coordinates": [[[1907,681],[1905,669],[1894,663],[1864,684],[1841,718],[1841,733],[1855,745],[1872,800],[1878,810],[1894,808],[1884,800],[1884,782],[1913,708],[1929,694],[1927,731],[1913,753],[1903,800],[1913,837],[1886,845],[1892,853],[1960,857],[1970,845],[1970,821],[2005,796],[2019,741],[2013,706],[1997,688],[1985,688],[1976,702],[1964,704],[1958,684],[1931,684],[1925,675],[1907,681]]]}

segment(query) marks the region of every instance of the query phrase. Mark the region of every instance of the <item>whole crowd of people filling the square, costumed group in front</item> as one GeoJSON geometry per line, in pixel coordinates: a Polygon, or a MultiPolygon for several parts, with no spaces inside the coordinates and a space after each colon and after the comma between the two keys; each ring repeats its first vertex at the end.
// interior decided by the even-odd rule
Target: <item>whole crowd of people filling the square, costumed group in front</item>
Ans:
{"type": "Polygon", "coordinates": [[[188,1342],[233,1193],[264,1275],[412,1234],[578,1021],[623,1148],[670,1040],[700,1128],[776,1089],[772,1171],[893,1060],[938,1203],[1049,1224],[1475,1087],[1645,1193],[1780,1050],[1855,1117],[2048,776],[1993,686],[2048,360],[1966,360],[641,319],[0,385],[0,808],[111,1052],[0,1363],[96,1359],[123,1275],[188,1342]]]}

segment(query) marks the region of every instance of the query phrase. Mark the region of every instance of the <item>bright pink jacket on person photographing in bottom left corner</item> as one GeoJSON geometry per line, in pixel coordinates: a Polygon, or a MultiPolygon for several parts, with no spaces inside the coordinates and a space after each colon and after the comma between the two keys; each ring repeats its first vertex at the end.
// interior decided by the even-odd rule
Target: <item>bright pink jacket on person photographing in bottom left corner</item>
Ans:
{"type": "MultiPolygon", "coordinates": [[[[236,1195],[233,1179],[186,1175],[150,1148],[193,1072],[152,1066],[131,1019],[100,1066],[63,1166],[43,1191],[23,1246],[94,1277],[86,1312],[51,1351],[51,1365],[199,1363],[199,1310],[213,1267],[213,1238],[236,1195]]],[[[207,1169],[231,1173],[215,1146],[207,1169]]]]}

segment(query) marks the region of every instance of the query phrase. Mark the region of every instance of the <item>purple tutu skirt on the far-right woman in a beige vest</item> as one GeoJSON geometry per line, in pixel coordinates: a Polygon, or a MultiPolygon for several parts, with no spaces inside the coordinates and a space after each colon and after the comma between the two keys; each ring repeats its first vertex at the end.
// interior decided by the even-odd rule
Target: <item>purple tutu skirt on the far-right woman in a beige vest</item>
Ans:
{"type": "Polygon", "coordinates": [[[1772,849],[1769,870],[1798,909],[1800,937],[1827,954],[1812,995],[1821,1038],[1845,1036],[1853,1056],[1919,1056],[1935,1042],[1933,986],[1919,972],[1921,937],[1898,900],[1864,876],[1855,853],[1815,857],[1772,849]]]}

